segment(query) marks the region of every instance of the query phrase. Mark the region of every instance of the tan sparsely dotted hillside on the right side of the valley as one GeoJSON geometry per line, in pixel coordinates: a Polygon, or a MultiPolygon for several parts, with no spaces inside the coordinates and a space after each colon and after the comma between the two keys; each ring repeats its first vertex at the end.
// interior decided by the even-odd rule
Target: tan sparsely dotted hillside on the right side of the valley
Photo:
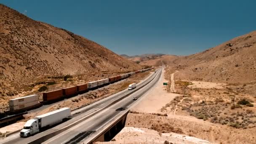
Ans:
{"type": "Polygon", "coordinates": [[[178,79],[251,83],[256,81],[256,31],[168,64],[179,69],[178,79]]]}

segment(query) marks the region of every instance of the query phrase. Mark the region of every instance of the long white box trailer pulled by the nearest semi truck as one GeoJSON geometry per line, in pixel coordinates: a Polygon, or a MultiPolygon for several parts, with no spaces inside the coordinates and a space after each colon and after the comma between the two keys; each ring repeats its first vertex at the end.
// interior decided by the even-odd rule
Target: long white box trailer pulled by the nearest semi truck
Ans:
{"type": "Polygon", "coordinates": [[[64,118],[71,115],[71,109],[69,107],[64,107],[62,109],[55,110],[53,112],[48,112],[44,115],[36,116],[35,119],[39,120],[40,128],[47,125],[53,125],[61,122],[64,118]]]}

